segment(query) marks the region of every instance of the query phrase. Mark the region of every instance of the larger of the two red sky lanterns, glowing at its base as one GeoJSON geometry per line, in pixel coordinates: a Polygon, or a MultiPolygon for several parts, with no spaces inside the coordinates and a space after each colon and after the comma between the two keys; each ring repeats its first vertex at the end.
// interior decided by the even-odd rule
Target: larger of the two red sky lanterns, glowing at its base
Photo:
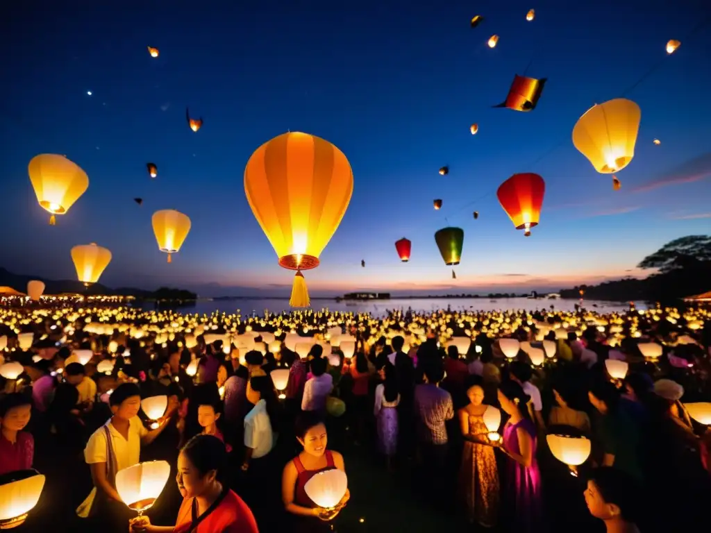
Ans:
{"type": "Polygon", "coordinates": [[[517,230],[525,230],[526,237],[538,226],[544,194],[545,181],[533,173],[514,174],[496,191],[501,207],[517,230]]]}

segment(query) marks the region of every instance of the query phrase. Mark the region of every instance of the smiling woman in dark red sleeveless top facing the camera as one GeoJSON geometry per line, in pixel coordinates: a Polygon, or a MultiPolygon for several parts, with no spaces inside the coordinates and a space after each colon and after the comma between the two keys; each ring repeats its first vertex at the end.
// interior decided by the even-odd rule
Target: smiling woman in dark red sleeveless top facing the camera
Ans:
{"type": "Polygon", "coordinates": [[[306,494],[306,482],[324,470],[346,471],[343,456],[336,451],[326,449],[328,436],[326,426],[314,411],[304,411],[296,420],[296,440],[304,451],[299,453],[284,467],[282,475],[282,500],[284,507],[296,515],[296,532],[315,533],[328,531],[331,520],[345,507],[350,492],[346,491],[343,500],[333,510],[322,509],[306,494]]]}

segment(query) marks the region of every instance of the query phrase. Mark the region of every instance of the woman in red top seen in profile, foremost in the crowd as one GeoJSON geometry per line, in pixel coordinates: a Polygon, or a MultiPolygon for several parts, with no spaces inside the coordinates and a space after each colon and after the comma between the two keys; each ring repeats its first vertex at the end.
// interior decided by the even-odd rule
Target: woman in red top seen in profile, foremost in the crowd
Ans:
{"type": "Polygon", "coordinates": [[[154,526],[146,516],[129,522],[132,533],[259,533],[252,511],[242,498],[220,483],[227,453],[220,439],[198,435],[178,456],[176,481],[183,496],[173,526],[154,526]]]}

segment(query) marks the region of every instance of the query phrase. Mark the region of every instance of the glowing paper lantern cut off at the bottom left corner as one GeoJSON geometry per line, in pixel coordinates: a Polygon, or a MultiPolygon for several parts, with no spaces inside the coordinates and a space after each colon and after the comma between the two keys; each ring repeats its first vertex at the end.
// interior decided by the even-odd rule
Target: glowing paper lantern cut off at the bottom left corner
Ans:
{"type": "Polygon", "coordinates": [[[36,470],[0,476],[0,529],[18,527],[40,499],[45,477],[36,470]]]}

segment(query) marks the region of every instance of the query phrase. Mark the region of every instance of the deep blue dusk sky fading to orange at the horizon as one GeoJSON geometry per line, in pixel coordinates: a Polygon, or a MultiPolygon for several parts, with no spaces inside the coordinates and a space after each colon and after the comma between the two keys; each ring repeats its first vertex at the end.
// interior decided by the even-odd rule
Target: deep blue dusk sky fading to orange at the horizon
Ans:
{"type": "Polygon", "coordinates": [[[331,141],[355,178],[321,266],[306,273],[314,296],[560,289],[640,274],[646,254],[711,227],[711,25],[698,26],[711,13],[700,0],[6,4],[0,266],[16,273],[75,279],[70,248],[97,242],[113,253],[109,286],[288,294],[293,274],[243,184],[252,151],[287,130],[331,141]],[[485,20],[471,29],[476,14],[485,20]],[[671,38],[682,45],[668,56],[671,38]],[[527,67],[548,78],[538,107],[493,109],[527,67]],[[642,110],[634,161],[615,192],[572,127],[638,80],[625,94],[642,110]],[[197,133],[186,106],[205,121],[197,133]],[[41,153],[66,154],[90,179],[54,227],[28,179],[41,153]],[[530,238],[496,199],[525,171],[547,185],[530,238]],[[172,264],[151,230],[167,208],[193,222],[172,264]],[[447,225],[465,233],[456,280],[434,243],[447,225]],[[407,264],[395,253],[403,236],[407,264]]]}

